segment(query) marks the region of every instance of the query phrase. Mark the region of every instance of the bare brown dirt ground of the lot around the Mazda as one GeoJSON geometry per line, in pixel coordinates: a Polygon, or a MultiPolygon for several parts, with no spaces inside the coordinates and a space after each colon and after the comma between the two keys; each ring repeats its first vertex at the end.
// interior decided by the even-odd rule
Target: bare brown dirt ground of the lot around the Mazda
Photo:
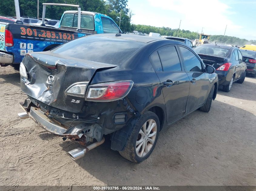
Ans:
{"type": "Polygon", "coordinates": [[[160,132],[151,156],[133,164],[110,141],[73,161],[79,145],[19,119],[20,75],[0,68],[0,185],[256,185],[256,79],[218,91],[211,111],[160,132]]]}

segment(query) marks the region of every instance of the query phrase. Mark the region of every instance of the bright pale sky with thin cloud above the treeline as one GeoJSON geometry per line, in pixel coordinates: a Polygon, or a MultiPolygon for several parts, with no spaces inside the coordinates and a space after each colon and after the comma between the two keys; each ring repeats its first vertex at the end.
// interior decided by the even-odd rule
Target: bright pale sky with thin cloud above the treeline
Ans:
{"type": "Polygon", "coordinates": [[[133,24],[256,40],[256,0],[128,0],[133,24]]]}

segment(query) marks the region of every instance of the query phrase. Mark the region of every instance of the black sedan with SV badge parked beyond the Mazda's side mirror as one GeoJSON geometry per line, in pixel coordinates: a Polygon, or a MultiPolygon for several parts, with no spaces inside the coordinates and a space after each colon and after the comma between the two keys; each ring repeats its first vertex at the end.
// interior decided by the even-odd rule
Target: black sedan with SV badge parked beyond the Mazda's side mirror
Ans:
{"type": "Polygon", "coordinates": [[[194,48],[205,64],[212,65],[218,74],[222,90],[229,92],[233,82],[242,84],[246,76],[246,64],[237,47],[203,44],[194,48]]]}

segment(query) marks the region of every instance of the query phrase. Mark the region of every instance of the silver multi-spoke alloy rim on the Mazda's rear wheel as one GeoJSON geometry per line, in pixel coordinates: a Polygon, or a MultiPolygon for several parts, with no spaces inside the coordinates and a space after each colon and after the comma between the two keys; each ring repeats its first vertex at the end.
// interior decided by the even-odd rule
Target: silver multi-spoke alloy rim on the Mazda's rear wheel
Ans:
{"type": "Polygon", "coordinates": [[[148,119],[141,127],[136,140],[136,154],[144,157],[152,149],[157,135],[157,124],[154,119],[148,119]]]}

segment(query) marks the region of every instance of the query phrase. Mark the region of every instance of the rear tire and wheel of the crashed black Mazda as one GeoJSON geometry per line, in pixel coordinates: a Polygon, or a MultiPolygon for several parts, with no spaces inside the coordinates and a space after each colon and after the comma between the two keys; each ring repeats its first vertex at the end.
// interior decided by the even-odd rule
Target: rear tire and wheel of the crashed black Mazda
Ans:
{"type": "Polygon", "coordinates": [[[155,148],[160,123],[158,116],[147,111],[143,113],[129,136],[125,149],[119,151],[127,160],[140,163],[147,159],[155,148]]]}

